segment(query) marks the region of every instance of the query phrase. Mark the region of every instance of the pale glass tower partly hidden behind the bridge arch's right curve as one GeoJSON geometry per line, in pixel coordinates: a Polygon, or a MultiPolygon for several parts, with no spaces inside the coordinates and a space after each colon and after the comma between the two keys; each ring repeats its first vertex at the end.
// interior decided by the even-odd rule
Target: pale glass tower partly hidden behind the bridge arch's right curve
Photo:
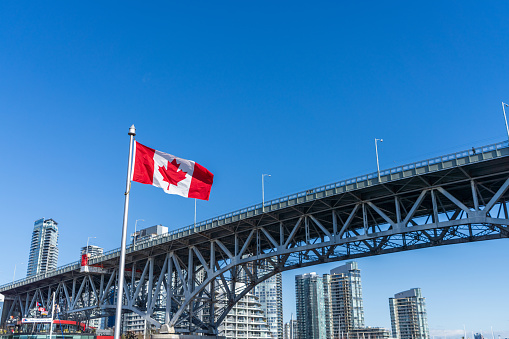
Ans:
{"type": "Polygon", "coordinates": [[[254,288],[273,338],[283,339],[283,282],[281,273],[254,288]]]}

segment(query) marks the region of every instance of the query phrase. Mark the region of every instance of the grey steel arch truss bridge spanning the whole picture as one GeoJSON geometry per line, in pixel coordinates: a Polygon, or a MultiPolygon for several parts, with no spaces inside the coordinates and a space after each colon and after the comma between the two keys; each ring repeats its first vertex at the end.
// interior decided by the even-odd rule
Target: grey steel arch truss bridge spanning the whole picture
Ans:
{"type": "Polygon", "coordinates": [[[216,334],[261,281],[326,262],[509,237],[509,147],[498,143],[340,181],[232,212],[90,260],[0,286],[2,322],[51,294],[61,318],[125,312],[177,333],[216,334]]]}

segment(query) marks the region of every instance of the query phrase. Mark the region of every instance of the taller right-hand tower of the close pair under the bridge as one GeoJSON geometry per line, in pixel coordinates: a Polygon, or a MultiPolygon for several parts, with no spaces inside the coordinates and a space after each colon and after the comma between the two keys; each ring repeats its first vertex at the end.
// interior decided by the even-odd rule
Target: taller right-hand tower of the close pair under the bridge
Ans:
{"type": "MultiPolygon", "coordinates": [[[[330,271],[332,338],[364,327],[361,271],[352,261],[330,271]]],[[[348,335],[351,337],[350,335],[348,335]]]]}

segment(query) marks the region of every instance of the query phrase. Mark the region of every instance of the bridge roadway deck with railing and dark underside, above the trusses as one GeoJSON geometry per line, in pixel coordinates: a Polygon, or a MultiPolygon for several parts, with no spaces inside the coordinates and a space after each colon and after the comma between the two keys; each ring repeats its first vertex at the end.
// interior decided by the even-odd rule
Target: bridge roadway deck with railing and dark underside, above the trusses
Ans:
{"type": "MultiPolygon", "coordinates": [[[[319,219],[320,213],[330,211],[332,208],[337,210],[338,206],[339,208],[344,206],[347,213],[346,211],[351,209],[353,204],[366,199],[379,199],[377,204],[383,209],[384,204],[390,204],[395,195],[407,197],[410,201],[412,200],[410,198],[415,198],[423,187],[433,187],[437,184],[454,184],[456,188],[451,190],[456,190],[455,194],[461,196],[461,186],[469,186],[471,178],[486,178],[484,191],[487,192],[490,191],[490,182],[497,182],[498,185],[498,182],[507,178],[508,156],[508,143],[501,142],[476,148],[475,153],[472,150],[462,151],[383,170],[380,173],[380,182],[375,172],[309,189],[267,201],[265,212],[262,211],[262,205],[258,204],[203,221],[198,223],[196,228],[190,225],[137,243],[135,248],[130,245],[127,248],[126,263],[170,250],[184,251],[190,245],[199,246],[201,243],[208,243],[210,239],[221,239],[228,248],[233,248],[235,246],[233,234],[249,232],[256,225],[266,226],[271,232],[271,225],[279,225],[280,222],[293,219],[302,213],[314,214],[319,219]]],[[[482,196],[481,190],[481,199],[482,196]]],[[[443,208],[447,210],[452,209],[453,206],[443,206],[443,208]]],[[[338,213],[341,217],[340,210],[338,213]]],[[[353,227],[362,228],[361,223],[362,220],[354,220],[353,227]]],[[[277,237],[279,229],[274,229],[273,232],[274,237],[277,237]]],[[[100,257],[92,258],[90,264],[113,268],[118,266],[119,255],[120,249],[117,248],[100,257]]],[[[46,274],[2,285],[0,293],[8,296],[44,286],[49,280],[66,280],[82,275],[79,269],[79,261],[73,262],[46,274]]]]}

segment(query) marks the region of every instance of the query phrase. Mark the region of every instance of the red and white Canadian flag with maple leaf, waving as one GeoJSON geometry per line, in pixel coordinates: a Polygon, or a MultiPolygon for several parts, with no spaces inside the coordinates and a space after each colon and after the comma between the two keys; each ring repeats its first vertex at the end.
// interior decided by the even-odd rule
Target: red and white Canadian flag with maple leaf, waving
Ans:
{"type": "Polygon", "coordinates": [[[168,194],[209,200],[214,175],[205,167],[134,143],[132,180],[162,188],[168,194]]]}

